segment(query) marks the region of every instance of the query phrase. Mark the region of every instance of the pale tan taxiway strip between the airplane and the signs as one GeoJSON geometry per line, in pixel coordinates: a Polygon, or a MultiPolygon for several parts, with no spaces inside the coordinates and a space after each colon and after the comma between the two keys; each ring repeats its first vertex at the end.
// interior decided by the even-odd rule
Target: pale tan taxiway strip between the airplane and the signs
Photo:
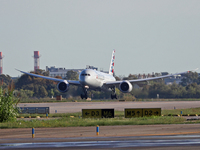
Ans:
{"type": "Polygon", "coordinates": [[[59,103],[20,103],[19,107],[50,107],[50,113],[81,112],[82,109],[114,108],[124,111],[124,108],[161,108],[181,109],[200,107],[200,101],[153,101],[153,102],[59,102],[59,103]]]}

